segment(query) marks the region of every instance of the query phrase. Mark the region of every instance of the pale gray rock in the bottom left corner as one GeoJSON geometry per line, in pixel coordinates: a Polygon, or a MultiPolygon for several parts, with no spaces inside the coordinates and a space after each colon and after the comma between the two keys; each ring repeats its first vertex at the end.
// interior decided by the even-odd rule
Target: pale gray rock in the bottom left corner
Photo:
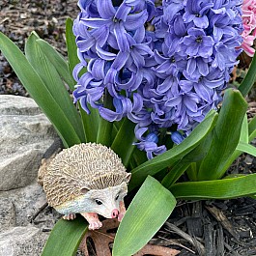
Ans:
{"type": "Polygon", "coordinates": [[[47,235],[40,229],[14,227],[0,233],[0,256],[39,256],[47,235]]]}

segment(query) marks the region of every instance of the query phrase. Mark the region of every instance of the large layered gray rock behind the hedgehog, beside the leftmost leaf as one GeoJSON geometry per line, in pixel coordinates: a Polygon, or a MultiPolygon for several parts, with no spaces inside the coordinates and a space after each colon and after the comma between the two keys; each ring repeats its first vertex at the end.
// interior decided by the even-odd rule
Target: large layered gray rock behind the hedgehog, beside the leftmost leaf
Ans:
{"type": "Polygon", "coordinates": [[[34,100],[0,96],[0,191],[35,181],[42,156],[56,138],[34,100]]]}

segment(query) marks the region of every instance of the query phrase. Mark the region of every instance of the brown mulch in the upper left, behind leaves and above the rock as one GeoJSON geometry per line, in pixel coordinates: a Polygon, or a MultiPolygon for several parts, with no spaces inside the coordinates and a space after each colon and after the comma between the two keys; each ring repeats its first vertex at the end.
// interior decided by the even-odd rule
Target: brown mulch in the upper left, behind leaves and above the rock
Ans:
{"type": "MultiPolygon", "coordinates": [[[[74,0],[0,0],[0,31],[21,50],[30,33],[36,31],[43,40],[66,56],[65,22],[67,17],[75,18],[77,14],[77,2],[74,0]]],[[[1,54],[0,94],[27,96],[1,54]]]]}

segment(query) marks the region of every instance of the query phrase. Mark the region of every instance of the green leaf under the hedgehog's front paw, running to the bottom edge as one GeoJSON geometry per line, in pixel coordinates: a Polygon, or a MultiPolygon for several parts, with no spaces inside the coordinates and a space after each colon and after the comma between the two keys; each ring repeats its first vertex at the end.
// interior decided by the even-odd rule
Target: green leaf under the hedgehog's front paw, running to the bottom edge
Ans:
{"type": "Polygon", "coordinates": [[[73,256],[88,231],[88,223],[78,215],[74,220],[61,219],[53,227],[42,256],[73,256]]]}

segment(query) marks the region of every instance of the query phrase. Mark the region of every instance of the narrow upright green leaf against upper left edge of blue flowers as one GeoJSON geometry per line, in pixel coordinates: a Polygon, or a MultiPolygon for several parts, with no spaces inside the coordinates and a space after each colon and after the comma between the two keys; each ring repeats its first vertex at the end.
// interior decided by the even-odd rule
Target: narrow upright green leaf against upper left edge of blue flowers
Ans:
{"type": "MultiPolygon", "coordinates": [[[[66,20],[66,43],[68,48],[68,58],[69,58],[69,67],[70,73],[72,73],[73,68],[78,64],[80,61],[77,57],[77,46],[75,43],[75,37],[72,34],[72,19],[70,17],[66,20]]],[[[73,80],[73,84],[71,86],[71,91],[74,90],[74,85],[76,82],[73,80]]]]}

